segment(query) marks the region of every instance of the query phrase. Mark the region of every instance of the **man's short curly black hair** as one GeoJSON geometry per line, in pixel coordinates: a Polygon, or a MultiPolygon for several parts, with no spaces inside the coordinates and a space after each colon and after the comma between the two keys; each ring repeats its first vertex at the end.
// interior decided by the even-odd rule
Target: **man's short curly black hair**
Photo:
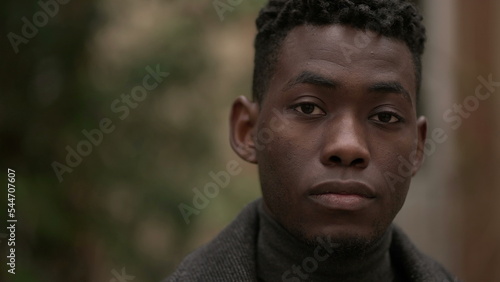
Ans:
{"type": "Polygon", "coordinates": [[[288,32],[301,25],[347,25],[405,42],[415,64],[417,93],[426,40],[422,16],[408,0],[270,0],[256,20],[253,99],[262,102],[288,32]]]}

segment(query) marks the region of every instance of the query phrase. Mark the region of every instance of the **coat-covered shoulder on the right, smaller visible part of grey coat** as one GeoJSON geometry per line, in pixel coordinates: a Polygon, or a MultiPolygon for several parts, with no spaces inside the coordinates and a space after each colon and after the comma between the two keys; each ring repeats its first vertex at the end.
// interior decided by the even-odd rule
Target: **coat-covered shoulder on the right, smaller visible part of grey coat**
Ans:
{"type": "Polygon", "coordinates": [[[440,263],[420,252],[397,226],[393,227],[390,253],[391,260],[404,281],[459,281],[440,263]]]}

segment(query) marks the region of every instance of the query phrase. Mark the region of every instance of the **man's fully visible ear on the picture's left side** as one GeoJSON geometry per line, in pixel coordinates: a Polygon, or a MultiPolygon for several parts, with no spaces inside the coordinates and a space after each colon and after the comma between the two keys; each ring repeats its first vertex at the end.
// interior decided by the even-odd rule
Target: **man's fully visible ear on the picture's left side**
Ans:
{"type": "Polygon", "coordinates": [[[257,163],[257,150],[254,142],[259,106],[245,96],[234,101],[229,118],[229,138],[233,151],[250,163],[257,163]]]}

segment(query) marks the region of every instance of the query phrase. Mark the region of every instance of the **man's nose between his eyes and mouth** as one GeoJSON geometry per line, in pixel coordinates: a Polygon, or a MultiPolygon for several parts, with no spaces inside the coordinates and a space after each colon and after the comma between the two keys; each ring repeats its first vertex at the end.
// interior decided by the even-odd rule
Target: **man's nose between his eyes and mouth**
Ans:
{"type": "Polygon", "coordinates": [[[325,166],[366,168],[370,151],[363,126],[354,117],[332,120],[323,132],[321,162],[325,166]]]}

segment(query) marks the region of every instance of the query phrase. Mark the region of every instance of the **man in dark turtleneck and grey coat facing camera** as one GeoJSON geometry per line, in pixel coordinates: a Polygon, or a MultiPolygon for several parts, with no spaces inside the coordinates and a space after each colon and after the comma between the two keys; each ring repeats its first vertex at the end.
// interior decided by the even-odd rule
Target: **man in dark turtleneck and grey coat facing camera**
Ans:
{"type": "Polygon", "coordinates": [[[263,199],[169,281],[455,281],[392,225],[426,138],[421,21],[402,0],[263,8],[253,101],[230,117],[263,199]]]}

